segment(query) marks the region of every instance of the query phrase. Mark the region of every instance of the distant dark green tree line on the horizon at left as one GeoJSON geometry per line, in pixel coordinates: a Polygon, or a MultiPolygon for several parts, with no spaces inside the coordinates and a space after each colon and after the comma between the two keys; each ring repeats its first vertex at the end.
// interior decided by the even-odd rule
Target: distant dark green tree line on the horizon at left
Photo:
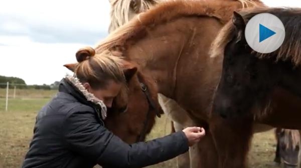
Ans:
{"type": "Polygon", "coordinates": [[[55,81],[51,85],[43,84],[43,85],[27,85],[25,81],[18,77],[8,77],[8,76],[1,76],[0,75],[0,88],[6,88],[6,83],[9,82],[9,88],[14,88],[15,86],[18,89],[44,89],[44,90],[51,90],[51,89],[58,89],[59,81],[55,81]]]}

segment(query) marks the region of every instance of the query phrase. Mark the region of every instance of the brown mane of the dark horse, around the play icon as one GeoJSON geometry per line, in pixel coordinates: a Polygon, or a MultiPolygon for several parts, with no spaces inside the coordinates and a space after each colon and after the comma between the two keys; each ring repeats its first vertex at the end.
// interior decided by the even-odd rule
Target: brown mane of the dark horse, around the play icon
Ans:
{"type": "MultiPolygon", "coordinates": [[[[262,54],[255,51],[253,52],[256,53],[259,58],[275,56],[276,61],[290,59],[295,66],[301,64],[301,8],[255,7],[239,12],[246,23],[253,16],[260,13],[270,13],[278,17],[284,25],[285,38],[281,47],[272,53],[262,54]]],[[[224,55],[225,46],[234,38],[233,35],[235,31],[235,27],[231,20],[223,27],[215,41],[212,43],[211,57],[224,55]]]]}

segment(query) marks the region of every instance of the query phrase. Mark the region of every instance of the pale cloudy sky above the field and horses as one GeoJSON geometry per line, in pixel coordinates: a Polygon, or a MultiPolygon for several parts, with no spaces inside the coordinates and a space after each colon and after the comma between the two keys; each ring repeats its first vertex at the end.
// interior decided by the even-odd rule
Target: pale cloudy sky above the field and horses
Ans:
{"type": "MultiPolygon", "coordinates": [[[[270,7],[299,7],[301,0],[263,0],[270,7]]],[[[108,35],[108,0],[10,0],[0,5],[0,75],[27,84],[51,84],[72,74],[75,53],[108,35]]]]}

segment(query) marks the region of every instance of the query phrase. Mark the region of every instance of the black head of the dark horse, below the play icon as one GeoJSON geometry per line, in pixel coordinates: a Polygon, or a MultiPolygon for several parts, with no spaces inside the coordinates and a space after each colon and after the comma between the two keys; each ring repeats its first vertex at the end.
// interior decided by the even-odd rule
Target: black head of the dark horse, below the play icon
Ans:
{"type": "Polygon", "coordinates": [[[229,42],[224,48],[222,76],[215,93],[214,111],[222,117],[234,117],[250,111],[263,99],[271,86],[269,67],[252,54],[244,29],[246,22],[234,13],[229,42]]]}

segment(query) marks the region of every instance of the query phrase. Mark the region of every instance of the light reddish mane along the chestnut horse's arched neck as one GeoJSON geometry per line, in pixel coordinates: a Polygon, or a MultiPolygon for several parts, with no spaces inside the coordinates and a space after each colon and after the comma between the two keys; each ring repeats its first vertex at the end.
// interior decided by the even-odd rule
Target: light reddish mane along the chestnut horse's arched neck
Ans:
{"type": "Polygon", "coordinates": [[[234,11],[242,7],[252,7],[261,4],[258,0],[237,1],[202,1],[174,0],[159,3],[154,8],[140,13],[125,25],[110,33],[106,39],[95,46],[97,53],[111,50],[114,47],[125,48],[126,42],[149,27],[186,16],[215,17],[222,23],[227,23],[234,11]]]}

